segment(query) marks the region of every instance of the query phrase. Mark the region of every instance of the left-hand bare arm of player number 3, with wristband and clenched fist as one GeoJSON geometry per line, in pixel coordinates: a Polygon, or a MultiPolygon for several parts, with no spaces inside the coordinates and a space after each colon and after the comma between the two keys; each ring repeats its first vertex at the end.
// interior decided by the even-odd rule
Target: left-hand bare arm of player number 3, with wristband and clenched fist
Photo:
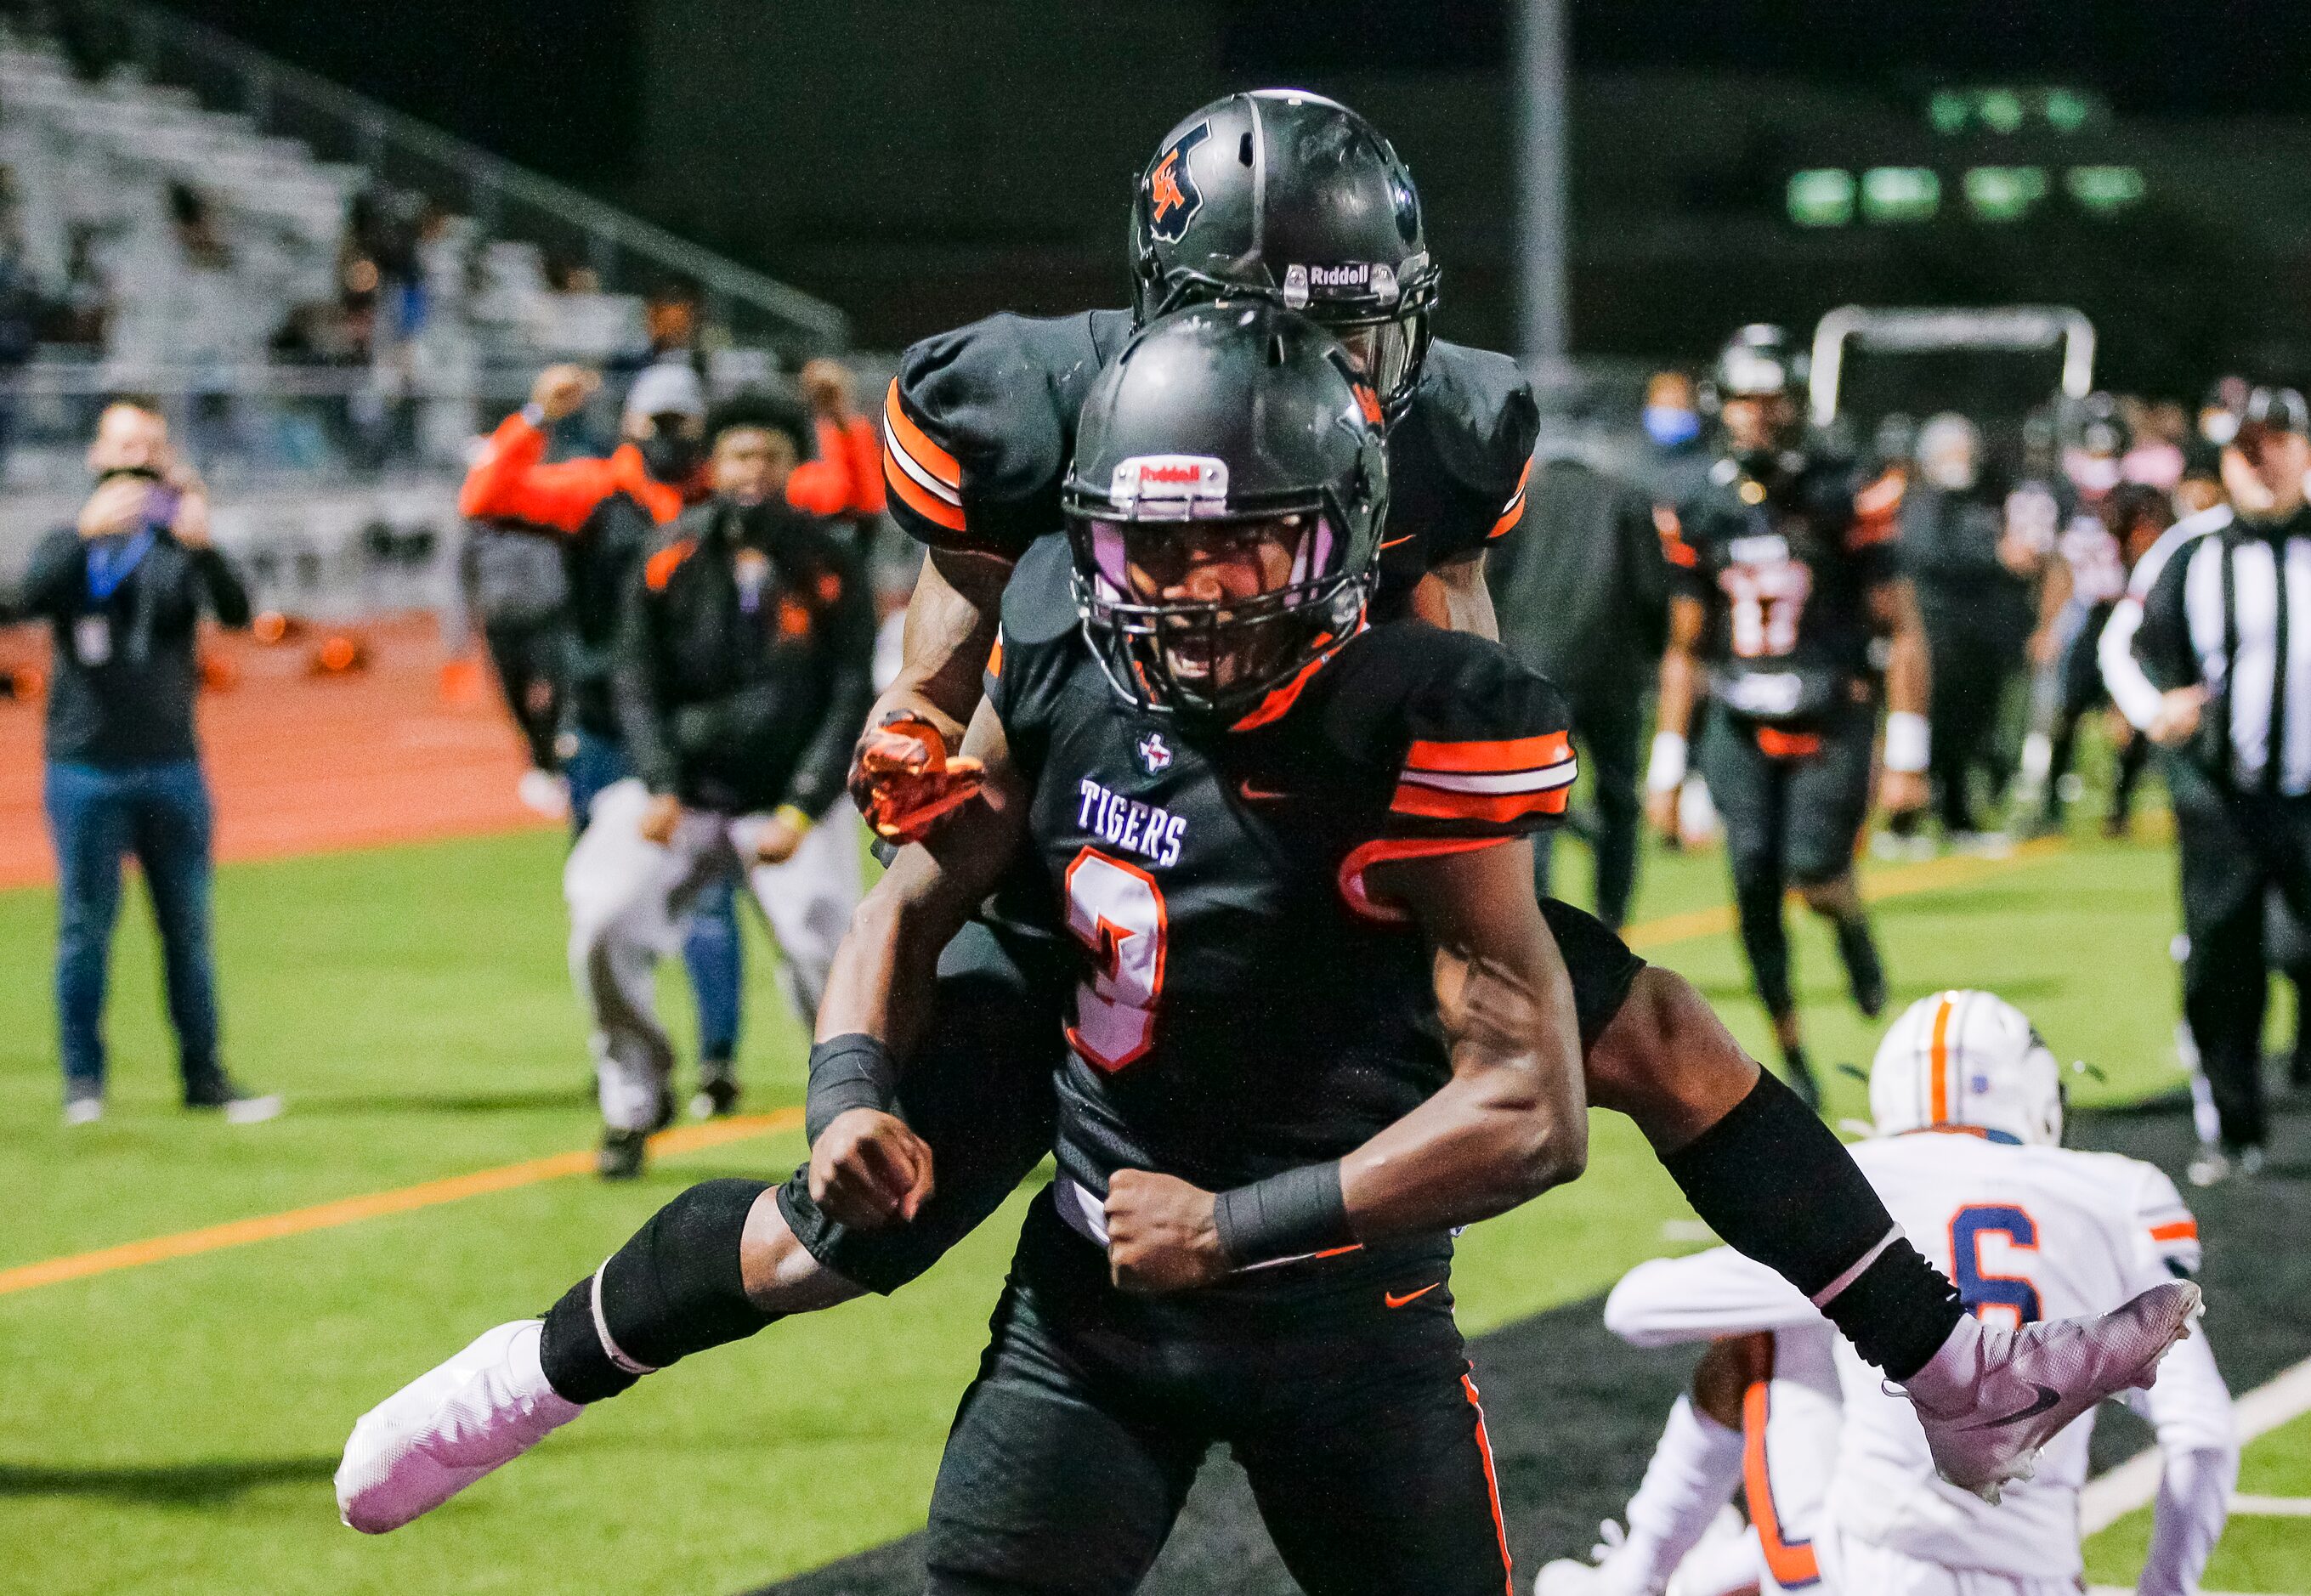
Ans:
{"type": "Polygon", "coordinates": [[[971,910],[994,889],[1019,848],[1026,804],[1010,767],[1003,723],[980,704],[964,751],[984,769],[978,801],[961,806],[927,841],[908,845],[860,903],[834,954],[827,995],[818,1005],[813,1062],[811,1199],[841,1224],[871,1229],[913,1220],[931,1194],[931,1150],[906,1127],[871,1079],[834,1090],[830,1072],[846,1079],[880,1076],[906,1058],[931,1014],[938,949],[961,931],[971,910]],[[816,1125],[830,1106],[839,1106],[816,1125]]]}

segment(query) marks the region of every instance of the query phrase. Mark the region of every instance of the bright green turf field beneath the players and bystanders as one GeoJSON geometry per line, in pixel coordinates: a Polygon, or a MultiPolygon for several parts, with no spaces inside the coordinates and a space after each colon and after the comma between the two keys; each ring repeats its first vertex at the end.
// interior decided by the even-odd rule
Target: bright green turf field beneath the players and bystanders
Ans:
{"type": "MultiPolygon", "coordinates": [[[[287,1118],[247,1129],[173,1109],[153,942],[132,912],[113,1113],[67,1134],[53,903],[0,894],[0,1270],[589,1146],[559,857],[557,836],[525,834],[222,871],[229,1060],[291,1097],[287,1118]]],[[[1638,919],[1722,894],[1715,855],[1657,859],[1638,919]]],[[[2103,1067],[2078,1083],[2098,1102],[2179,1081],[2170,903],[2163,848],[2080,843],[1888,898],[1881,931],[1897,1000],[2004,991],[2064,1058],[2103,1067]]],[[[1828,940],[1807,928],[1798,947],[1816,1060],[1867,1062],[1872,1032],[1842,1002],[1828,940]]],[[[1763,1044],[1729,935],[1648,952],[1763,1044]]],[[[749,954],[746,1106],[795,1104],[800,1032],[760,938],[749,954]]],[[[686,1023],[679,982],[666,993],[686,1023]]],[[[1863,1113],[1856,1081],[1837,1081],[1833,1113],[1863,1113]]],[[[797,1134],[740,1141],[638,1187],[552,1180],[0,1296],[0,1591],[737,1591],[917,1527],[1005,1222],[892,1303],[647,1381],[407,1531],[367,1541],[335,1522],[328,1474],[361,1409],[481,1328],[543,1310],[679,1185],[776,1176],[797,1153],[797,1134]]],[[[1685,1217],[1627,1125],[1602,1118],[1583,1183],[1465,1238],[1467,1328],[1604,1289],[1689,1245],[1664,1231],[1685,1217]]],[[[2272,1437],[2258,1469],[2302,1481],[2311,1439],[2272,1437]]],[[[2131,1573],[2128,1534],[2103,1538],[2098,1578],[2131,1573]]],[[[2209,1587],[2279,1591],[2262,1571],[2281,1566],[2311,1566],[2311,1522],[2235,1531],[2209,1587]]]]}

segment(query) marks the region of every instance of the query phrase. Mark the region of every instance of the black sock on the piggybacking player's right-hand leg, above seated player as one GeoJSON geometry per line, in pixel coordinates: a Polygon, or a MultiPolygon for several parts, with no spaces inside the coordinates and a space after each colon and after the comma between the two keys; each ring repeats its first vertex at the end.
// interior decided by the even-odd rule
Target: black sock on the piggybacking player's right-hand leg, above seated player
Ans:
{"type": "Polygon", "coordinates": [[[1888,1243],[1893,1215],[1853,1155],[1770,1074],[1662,1166],[1726,1245],[1807,1298],[1877,1252],[1821,1312],[1888,1379],[1925,1367],[1957,1326],[1957,1287],[1907,1240],[1888,1243]]]}

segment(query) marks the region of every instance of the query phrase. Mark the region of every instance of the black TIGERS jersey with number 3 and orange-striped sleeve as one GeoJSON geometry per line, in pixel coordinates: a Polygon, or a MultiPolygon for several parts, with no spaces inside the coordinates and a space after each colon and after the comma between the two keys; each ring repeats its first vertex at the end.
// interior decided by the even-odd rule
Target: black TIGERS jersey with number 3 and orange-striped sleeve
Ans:
{"type": "Polygon", "coordinates": [[[1428,947],[1363,873],[1562,818],[1553,686],[1391,621],[1232,730],[1132,709],[1075,631],[1005,635],[987,691],[1075,963],[1063,1176],[1225,1189],[1336,1159],[1447,1081],[1428,947]]]}

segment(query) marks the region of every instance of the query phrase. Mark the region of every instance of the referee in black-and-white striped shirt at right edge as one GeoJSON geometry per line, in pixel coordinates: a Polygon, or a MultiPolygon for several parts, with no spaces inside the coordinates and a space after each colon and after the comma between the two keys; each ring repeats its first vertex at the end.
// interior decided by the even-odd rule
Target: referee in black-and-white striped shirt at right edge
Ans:
{"type": "Polygon", "coordinates": [[[2184,1016],[2221,1146],[2212,1185],[2256,1173],[2267,1139],[2262,905],[2311,917],[2311,411],[2258,388],[2223,450],[2230,510],[2177,524],[2112,614],[2103,670],[2119,709],[2168,748],[2182,843],[2184,1016]]]}

